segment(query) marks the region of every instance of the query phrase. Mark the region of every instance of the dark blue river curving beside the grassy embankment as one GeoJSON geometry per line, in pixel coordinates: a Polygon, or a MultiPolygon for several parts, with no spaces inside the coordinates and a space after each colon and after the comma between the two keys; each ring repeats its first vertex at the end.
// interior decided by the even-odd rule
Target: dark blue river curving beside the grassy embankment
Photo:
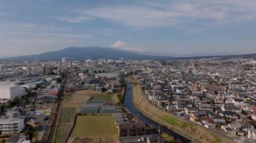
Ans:
{"type": "Polygon", "coordinates": [[[154,122],[153,120],[150,120],[148,117],[140,113],[135,105],[133,105],[133,98],[132,98],[132,92],[133,92],[133,85],[127,85],[126,91],[125,91],[125,98],[124,98],[124,104],[125,107],[133,113],[133,115],[136,115],[139,120],[145,122],[146,124],[153,126],[154,128],[158,129],[160,127],[160,132],[164,132],[168,134],[169,136],[172,136],[176,142],[185,142],[189,143],[191,142],[187,138],[173,132],[172,130],[169,130],[168,128],[165,128],[164,126],[161,126],[160,124],[154,122]]]}

